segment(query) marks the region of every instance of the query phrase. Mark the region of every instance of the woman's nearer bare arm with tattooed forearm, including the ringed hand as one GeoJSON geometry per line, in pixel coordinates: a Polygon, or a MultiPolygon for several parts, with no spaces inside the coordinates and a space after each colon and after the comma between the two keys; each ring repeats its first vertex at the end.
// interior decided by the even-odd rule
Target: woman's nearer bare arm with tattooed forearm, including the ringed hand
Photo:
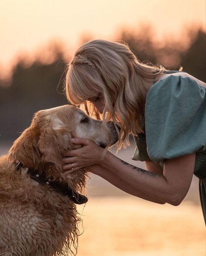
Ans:
{"type": "Polygon", "coordinates": [[[132,166],[109,151],[103,155],[103,149],[90,140],[76,138],[73,143],[82,144],[83,147],[65,153],[65,156],[70,157],[63,160],[66,164],[63,169],[71,169],[71,163],[74,166],[73,170],[66,171],[66,174],[85,166],[99,164],[142,193],[172,205],[179,205],[189,190],[195,165],[195,153],[165,160],[163,174],[159,174],[132,166]]]}

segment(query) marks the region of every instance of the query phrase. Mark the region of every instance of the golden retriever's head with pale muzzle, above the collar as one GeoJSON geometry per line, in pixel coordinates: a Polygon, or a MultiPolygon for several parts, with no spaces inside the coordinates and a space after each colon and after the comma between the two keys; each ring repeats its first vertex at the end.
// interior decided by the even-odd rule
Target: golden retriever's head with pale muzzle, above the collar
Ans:
{"type": "Polygon", "coordinates": [[[67,177],[62,174],[64,152],[77,147],[70,139],[81,137],[106,147],[118,140],[112,123],[108,124],[108,129],[111,140],[102,121],[90,118],[74,106],[40,110],[35,114],[31,126],[14,142],[9,158],[14,163],[20,161],[23,166],[40,173],[45,171],[47,176],[55,180],[66,179],[72,188],[81,187],[85,185],[84,171],[76,171],[67,177]]]}

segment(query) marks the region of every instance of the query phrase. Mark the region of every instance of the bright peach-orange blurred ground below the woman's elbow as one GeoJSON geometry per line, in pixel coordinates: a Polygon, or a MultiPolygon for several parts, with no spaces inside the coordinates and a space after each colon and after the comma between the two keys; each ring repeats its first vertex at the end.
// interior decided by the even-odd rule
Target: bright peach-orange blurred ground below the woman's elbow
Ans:
{"type": "Polygon", "coordinates": [[[192,203],[170,206],[133,196],[92,197],[78,209],[84,232],[77,256],[206,255],[202,211],[192,203]]]}

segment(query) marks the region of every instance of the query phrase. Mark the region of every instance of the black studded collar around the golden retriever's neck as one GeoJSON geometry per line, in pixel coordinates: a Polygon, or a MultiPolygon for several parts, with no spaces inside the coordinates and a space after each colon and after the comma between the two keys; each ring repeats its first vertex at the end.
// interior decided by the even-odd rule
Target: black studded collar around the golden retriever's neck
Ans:
{"type": "Polygon", "coordinates": [[[36,180],[38,183],[42,185],[48,185],[53,190],[55,190],[57,193],[60,193],[64,196],[69,197],[69,199],[76,204],[83,204],[88,201],[88,198],[84,195],[81,195],[77,193],[76,191],[69,188],[67,183],[60,183],[58,181],[52,181],[51,179],[46,179],[46,176],[44,173],[39,174],[35,170],[30,170],[28,167],[24,167],[21,162],[17,163],[16,166],[17,170],[20,170],[21,168],[26,168],[28,175],[33,179],[36,180]]]}

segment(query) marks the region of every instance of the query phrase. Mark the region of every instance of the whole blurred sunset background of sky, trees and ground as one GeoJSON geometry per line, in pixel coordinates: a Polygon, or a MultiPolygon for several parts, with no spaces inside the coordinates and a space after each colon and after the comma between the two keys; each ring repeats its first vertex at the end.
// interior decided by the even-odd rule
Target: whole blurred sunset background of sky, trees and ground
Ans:
{"type": "MultiPolygon", "coordinates": [[[[0,0],[0,155],[33,113],[67,104],[66,63],[93,39],[124,41],[141,61],[183,66],[206,82],[205,0],[0,0]]],[[[133,151],[131,140],[117,156],[144,168],[133,151]]],[[[196,177],[177,207],[145,202],[94,175],[88,186],[78,256],[205,255],[196,177]]]]}

